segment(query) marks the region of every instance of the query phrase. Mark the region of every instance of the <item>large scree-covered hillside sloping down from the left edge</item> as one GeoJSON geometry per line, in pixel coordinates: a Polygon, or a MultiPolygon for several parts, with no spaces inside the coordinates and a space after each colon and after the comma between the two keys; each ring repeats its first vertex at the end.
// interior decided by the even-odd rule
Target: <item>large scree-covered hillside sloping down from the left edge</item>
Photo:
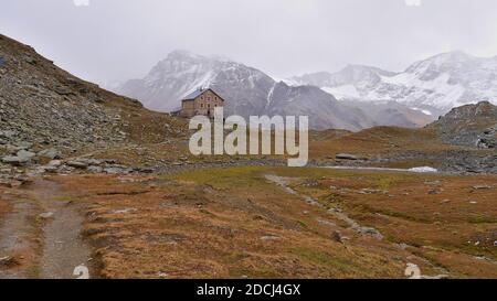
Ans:
{"type": "Polygon", "coordinates": [[[76,78],[31,46],[0,35],[3,163],[23,164],[124,142],[160,142],[180,130],[176,119],[76,78]]]}

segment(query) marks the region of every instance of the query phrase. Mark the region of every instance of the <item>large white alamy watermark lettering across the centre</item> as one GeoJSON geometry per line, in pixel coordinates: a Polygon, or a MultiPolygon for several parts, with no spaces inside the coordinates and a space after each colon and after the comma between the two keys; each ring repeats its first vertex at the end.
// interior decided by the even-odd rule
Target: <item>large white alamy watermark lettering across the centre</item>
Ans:
{"type": "Polygon", "coordinates": [[[298,117],[298,126],[295,116],[251,116],[247,122],[237,115],[224,118],[223,108],[218,107],[213,120],[195,116],[190,119],[189,128],[198,130],[189,142],[190,152],[194,155],[288,155],[288,166],[293,168],[305,166],[308,162],[307,116],[298,117]],[[226,137],[225,130],[231,131],[226,137]]]}

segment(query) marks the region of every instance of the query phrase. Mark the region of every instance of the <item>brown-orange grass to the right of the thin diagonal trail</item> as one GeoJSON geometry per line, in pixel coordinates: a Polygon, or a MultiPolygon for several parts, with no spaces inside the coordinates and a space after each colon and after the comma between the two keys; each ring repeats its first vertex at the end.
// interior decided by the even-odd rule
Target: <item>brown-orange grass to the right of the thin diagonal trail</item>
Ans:
{"type": "Polygon", "coordinates": [[[416,254],[445,267],[453,277],[495,278],[497,187],[474,186],[491,185],[496,179],[408,175],[379,182],[349,174],[317,180],[311,189],[297,189],[325,204],[340,206],[360,223],[380,229],[392,243],[414,246],[416,254]],[[363,189],[379,192],[363,194],[363,189]]]}

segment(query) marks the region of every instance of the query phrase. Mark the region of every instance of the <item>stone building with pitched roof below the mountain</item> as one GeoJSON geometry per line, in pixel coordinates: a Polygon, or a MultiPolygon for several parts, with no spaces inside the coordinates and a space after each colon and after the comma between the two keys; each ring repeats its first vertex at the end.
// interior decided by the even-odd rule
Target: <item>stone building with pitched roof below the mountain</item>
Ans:
{"type": "Polygon", "coordinates": [[[214,117],[214,108],[223,107],[224,99],[213,89],[198,89],[181,101],[180,116],[191,118],[197,115],[214,117]]]}

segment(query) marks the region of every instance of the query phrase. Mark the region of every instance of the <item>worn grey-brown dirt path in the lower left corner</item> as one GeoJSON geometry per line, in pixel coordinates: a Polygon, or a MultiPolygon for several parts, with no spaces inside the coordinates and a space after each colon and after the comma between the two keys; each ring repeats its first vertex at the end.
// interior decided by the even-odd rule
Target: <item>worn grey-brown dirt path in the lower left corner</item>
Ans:
{"type": "Polygon", "coordinates": [[[81,204],[41,178],[22,192],[27,198],[9,197],[13,211],[0,228],[0,278],[76,278],[74,269],[82,270],[91,257],[81,236],[81,204]]]}

